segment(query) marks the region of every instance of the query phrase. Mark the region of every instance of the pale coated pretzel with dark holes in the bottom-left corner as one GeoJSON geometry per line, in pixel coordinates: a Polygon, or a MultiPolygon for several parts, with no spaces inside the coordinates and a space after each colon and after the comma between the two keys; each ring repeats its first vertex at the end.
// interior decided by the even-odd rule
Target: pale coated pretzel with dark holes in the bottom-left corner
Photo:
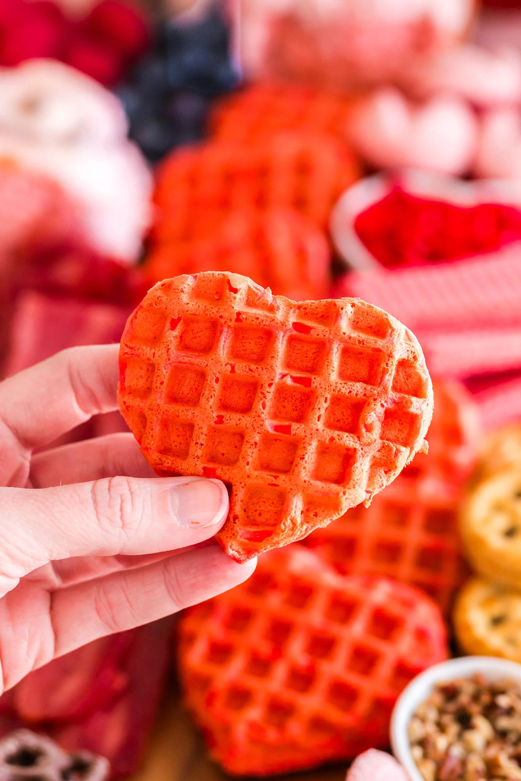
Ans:
{"type": "Polygon", "coordinates": [[[105,757],[87,751],[67,754],[28,729],[0,740],[0,781],[105,781],[109,769],[105,757]]]}

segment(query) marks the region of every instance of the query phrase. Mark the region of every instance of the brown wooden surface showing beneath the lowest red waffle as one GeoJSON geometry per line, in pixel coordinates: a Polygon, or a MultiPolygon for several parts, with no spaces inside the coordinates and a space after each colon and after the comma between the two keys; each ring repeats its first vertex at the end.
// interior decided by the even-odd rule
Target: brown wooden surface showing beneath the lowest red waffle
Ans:
{"type": "MultiPolygon", "coordinates": [[[[288,781],[344,781],[346,766],[347,763],[294,773],[288,776],[288,781]]],[[[230,781],[231,778],[209,760],[201,736],[181,707],[174,686],[169,686],[145,763],[132,781],[230,781]]]]}

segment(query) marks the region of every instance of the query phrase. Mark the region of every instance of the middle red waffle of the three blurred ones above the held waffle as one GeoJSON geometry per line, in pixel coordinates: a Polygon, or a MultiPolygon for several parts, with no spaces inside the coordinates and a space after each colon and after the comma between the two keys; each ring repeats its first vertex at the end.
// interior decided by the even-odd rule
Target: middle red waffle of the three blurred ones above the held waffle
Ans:
{"type": "Polygon", "coordinates": [[[153,235],[179,241],[193,235],[194,215],[208,211],[215,224],[219,214],[245,207],[290,207],[327,226],[334,202],[358,176],[348,148],[326,134],[284,133],[258,144],[216,140],[180,149],[159,167],[153,235]]]}

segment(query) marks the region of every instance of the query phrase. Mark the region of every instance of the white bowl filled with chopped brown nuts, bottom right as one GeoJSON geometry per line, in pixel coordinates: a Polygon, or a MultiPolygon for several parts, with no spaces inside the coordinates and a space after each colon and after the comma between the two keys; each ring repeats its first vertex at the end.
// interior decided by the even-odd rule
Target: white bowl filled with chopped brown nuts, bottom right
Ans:
{"type": "Polygon", "coordinates": [[[391,746],[411,781],[521,781],[521,665],[464,656],[398,697],[391,746]]]}

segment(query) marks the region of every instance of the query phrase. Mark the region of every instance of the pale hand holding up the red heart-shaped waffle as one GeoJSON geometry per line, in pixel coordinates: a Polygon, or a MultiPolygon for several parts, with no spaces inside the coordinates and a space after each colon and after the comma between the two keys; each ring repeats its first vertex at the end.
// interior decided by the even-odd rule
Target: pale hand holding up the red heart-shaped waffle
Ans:
{"type": "Polygon", "coordinates": [[[118,345],[0,383],[0,694],[30,670],[246,580],[212,540],[223,483],[157,478],[130,433],[34,454],[117,408],[118,345]]]}

